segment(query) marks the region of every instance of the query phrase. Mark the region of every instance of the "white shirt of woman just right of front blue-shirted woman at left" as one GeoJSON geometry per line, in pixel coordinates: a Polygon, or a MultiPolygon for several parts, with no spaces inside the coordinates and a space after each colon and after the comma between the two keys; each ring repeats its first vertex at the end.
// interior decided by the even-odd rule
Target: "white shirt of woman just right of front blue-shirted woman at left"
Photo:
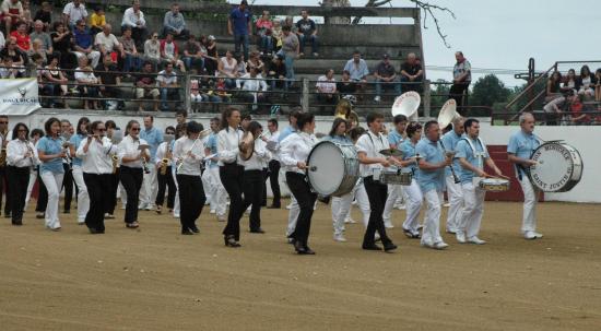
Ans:
{"type": "Polygon", "coordinates": [[[93,139],[90,142],[87,152],[83,149],[87,144],[87,139],[82,140],[75,156],[82,159],[82,172],[85,174],[113,174],[111,153],[117,151],[117,146],[110,142],[110,139],[103,137],[101,141],[93,139]]]}

